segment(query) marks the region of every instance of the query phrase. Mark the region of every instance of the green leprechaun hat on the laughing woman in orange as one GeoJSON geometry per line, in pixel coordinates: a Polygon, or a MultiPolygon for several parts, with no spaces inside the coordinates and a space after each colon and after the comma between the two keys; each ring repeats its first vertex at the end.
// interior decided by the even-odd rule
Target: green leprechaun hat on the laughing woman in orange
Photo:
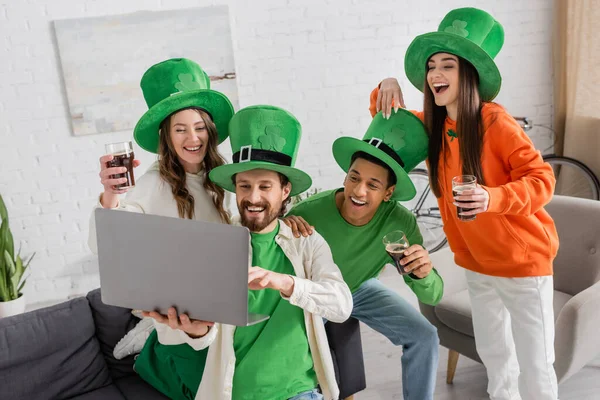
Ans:
{"type": "Polygon", "coordinates": [[[494,58],[504,44],[504,28],[490,14],[477,8],[450,11],[437,32],[417,36],[406,50],[404,70],[410,82],[423,91],[427,61],[436,53],[450,53],[469,61],[479,74],[483,101],[493,100],[502,77],[494,58]]]}

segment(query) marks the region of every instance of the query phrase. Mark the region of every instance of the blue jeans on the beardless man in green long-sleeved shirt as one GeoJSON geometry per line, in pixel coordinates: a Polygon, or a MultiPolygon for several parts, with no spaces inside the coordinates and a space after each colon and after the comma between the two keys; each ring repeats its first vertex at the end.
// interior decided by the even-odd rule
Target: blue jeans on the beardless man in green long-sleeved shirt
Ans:
{"type": "Polygon", "coordinates": [[[352,295],[352,317],[402,346],[404,400],[431,400],[438,365],[437,329],[419,311],[378,279],[352,295]]]}

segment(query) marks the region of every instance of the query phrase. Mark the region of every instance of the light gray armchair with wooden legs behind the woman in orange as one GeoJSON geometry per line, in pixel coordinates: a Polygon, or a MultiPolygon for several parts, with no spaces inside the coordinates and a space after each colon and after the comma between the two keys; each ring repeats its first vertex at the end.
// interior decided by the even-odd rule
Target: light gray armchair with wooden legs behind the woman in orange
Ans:
{"type": "MultiPolygon", "coordinates": [[[[554,369],[563,382],[600,354],[600,202],[554,196],[546,206],[560,239],[554,260],[554,369]]],[[[471,303],[464,270],[449,249],[431,256],[444,278],[444,297],[435,307],[419,304],[450,350],[447,383],[452,383],[458,355],[477,362],[471,303]]]]}

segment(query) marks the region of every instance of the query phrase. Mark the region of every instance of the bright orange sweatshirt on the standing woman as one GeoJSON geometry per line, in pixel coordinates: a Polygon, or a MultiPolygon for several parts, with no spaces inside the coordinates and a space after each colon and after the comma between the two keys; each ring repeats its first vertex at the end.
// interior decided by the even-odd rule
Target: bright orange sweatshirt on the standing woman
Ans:
{"type": "MultiPolygon", "coordinates": [[[[371,115],[379,89],[371,93],[371,115]]],[[[413,113],[423,121],[423,112],[413,113]]],[[[521,126],[495,103],[482,107],[481,163],[490,195],[487,212],[460,221],[453,204],[452,178],[462,175],[456,122],[446,118],[447,153],[440,157],[442,196],[437,199],[455,262],[481,274],[517,278],[552,275],[558,250],[554,221],[544,210],[554,193],[552,167],[535,150],[521,126]],[[452,131],[452,132],[449,132],[452,131]]]]}

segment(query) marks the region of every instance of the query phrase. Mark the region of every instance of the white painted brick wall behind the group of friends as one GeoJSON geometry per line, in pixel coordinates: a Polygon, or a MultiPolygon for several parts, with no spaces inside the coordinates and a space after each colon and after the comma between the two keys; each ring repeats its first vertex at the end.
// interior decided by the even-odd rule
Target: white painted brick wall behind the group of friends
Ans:
{"type": "MultiPolygon", "coordinates": [[[[86,245],[90,210],[101,190],[98,157],[105,143],[131,137],[71,134],[51,21],[212,4],[223,1],[12,0],[0,5],[0,193],[16,243],[24,254],[37,254],[26,286],[30,303],[98,286],[97,262],[86,245]]],[[[404,76],[405,49],[415,35],[435,30],[455,7],[486,9],[504,25],[505,45],[497,57],[504,83],[497,101],[515,115],[551,123],[552,0],[227,4],[240,105],[273,104],[298,117],[304,139],[297,166],[317,187],[341,184],[331,143],[341,135],[362,135],[370,121],[369,93],[380,79],[398,77],[407,105],[420,108],[420,93],[404,76]]],[[[538,147],[551,144],[545,130],[530,133],[538,147]]],[[[148,154],[140,158],[145,165],[152,161],[148,154]]]]}

